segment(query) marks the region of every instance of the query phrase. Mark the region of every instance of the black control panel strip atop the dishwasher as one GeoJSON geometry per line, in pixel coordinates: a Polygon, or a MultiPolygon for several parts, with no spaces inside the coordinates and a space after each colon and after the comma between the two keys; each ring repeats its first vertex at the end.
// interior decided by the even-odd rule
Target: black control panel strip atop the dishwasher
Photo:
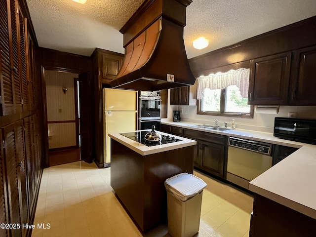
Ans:
{"type": "Polygon", "coordinates": [[[238,147],[241,149],[262,153],[265,155],[271,155],[272,144],[257,142],[252,140],[246,140],[236,137],[230,137],[228,140],[228,145],[232,147],[238,147]]]}

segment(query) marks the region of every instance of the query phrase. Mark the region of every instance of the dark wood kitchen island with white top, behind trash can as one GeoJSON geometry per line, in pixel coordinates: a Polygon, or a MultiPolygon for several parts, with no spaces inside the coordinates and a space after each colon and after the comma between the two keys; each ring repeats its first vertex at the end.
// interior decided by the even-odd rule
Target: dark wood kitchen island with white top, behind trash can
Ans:
{"type": "Polygon", "coordinates": [[[170,135],[181,141],[146,146],[121,134],[109,136],[111,186],[133,221],[147,232],[167,220],[164,181],[179,173],[193,173],[196,141],[170,135]]]}

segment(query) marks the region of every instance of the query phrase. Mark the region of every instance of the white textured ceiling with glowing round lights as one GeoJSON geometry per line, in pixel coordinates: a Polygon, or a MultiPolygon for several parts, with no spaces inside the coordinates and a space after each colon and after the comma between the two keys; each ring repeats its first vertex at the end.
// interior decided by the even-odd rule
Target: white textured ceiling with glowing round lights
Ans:
{"type": "MultiPolygon", "coordinates": [[[[94,48],[124,53],[119,29],[144,0],[26,0],[41,47],[90,56],[94,48]]],[[[316,15],[316,0],[193,0],[184,41],[188,58],[316,15]],[[208,47],[193,40],[204,36],[208,47]]]]}

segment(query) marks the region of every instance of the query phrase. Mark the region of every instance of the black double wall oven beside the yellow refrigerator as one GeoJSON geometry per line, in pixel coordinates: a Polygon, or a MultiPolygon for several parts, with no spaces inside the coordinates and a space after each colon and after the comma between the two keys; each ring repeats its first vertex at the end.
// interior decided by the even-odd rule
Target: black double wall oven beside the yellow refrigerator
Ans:
{"type": "Polygon", "coordinates": [[[139,128],[151,129],[152,125],[160,129],[160,91],[140,91],[139,128]]]}

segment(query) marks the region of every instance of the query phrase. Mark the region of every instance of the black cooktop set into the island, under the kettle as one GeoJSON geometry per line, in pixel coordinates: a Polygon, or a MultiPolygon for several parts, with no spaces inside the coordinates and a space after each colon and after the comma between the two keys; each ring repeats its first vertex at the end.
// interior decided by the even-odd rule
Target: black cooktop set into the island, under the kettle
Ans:
{"type": "Polygon", "coordinates": [[[124,137],[128,137],[129,139],[132,139],[136,142],[142,143],[148,147],[151,146],[157,146],[157,145],[163,145],[163,144],[167,144],[167,143],[172,143],[172,142],[179,142],[182,141],[180,139],[175,138],[172,135],[161,135],[161,141],[160,142],[148,142],[145,140],[145,135],[147,133],[149,133],[151,130],[148,131],[135,131],[135,132],[126,132],[126,133],[120,133],[120,135],[124,136],[124,137]]]}

